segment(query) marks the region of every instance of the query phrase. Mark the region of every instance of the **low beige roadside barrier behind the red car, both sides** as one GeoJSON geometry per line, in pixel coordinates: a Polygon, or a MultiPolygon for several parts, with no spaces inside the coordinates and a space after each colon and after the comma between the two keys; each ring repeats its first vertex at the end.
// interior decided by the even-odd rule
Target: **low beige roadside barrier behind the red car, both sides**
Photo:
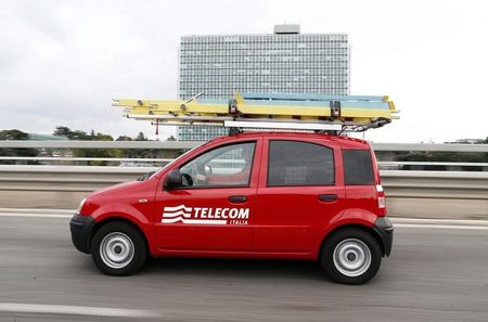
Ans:
{"type": "MultiPolygon", "coordinates": [[[[76,208],[90,192],[152,167],[0,166],[0,208],[76,208]]],[[[402,217],[488,219],[488,172],[381,172],[388,210],[402,217]]]]}

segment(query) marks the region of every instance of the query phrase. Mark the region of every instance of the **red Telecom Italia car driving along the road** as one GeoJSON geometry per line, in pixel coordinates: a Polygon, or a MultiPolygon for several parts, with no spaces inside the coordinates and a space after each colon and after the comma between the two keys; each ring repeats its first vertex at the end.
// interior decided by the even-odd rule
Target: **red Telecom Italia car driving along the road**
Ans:
{"type": "Polygon", "coordinates": [[[348,284],[373,278],[393,241],[371,146],[294,132],[211,140],[90,194],[70,231],[110,275],[136,273],[147,256],[286,258],[348,284]]]}

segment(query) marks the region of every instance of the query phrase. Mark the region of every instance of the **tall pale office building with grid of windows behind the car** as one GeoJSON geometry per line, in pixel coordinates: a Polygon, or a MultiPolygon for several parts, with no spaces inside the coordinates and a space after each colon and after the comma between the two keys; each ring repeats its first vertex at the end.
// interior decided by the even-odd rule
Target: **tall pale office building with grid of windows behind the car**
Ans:
{"type": "MultiPolygon", "coordinates": [[[[300,34],[279,25],[274,34],[181,37],[179,98],[232,93],[349,93],[349,44],[345,34],[300,34]]],[[[207,141],[217,127],[179,127],[180,141],[207,141]]]]}

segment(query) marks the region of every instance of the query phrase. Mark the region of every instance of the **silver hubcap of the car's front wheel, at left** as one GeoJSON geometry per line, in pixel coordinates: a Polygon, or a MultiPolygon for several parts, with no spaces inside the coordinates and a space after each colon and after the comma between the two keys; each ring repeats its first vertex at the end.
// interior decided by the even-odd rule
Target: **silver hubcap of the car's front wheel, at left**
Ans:
{"type": "Polygon", "coordinates": [[[133,253],[132,241],[120,232],[107,234],[100,244],[102,261],[113,269],[125,268],[132,260],[133,253]]]}

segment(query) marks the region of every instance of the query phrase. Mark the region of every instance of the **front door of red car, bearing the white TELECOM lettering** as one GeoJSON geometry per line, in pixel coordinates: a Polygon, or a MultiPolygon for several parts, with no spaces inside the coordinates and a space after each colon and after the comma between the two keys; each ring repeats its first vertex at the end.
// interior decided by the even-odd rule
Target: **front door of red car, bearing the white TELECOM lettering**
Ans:
{"type": "Polygon", "coordinates": [[[156,193],[160,250],[253,250],[260,141],[215,146],[177,166],[185,185],[156,193]]]}

